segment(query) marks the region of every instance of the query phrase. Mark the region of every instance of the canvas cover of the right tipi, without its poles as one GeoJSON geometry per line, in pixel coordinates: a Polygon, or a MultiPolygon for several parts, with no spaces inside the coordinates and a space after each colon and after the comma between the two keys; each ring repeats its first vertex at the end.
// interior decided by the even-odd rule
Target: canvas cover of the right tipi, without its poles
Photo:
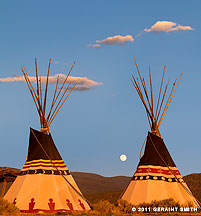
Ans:
{"type": "Polygon", "coordinates": [[[137,205],[169,198],[198,206],[163,139],[148,132],[144,155],[121,199],[137,205]]]}

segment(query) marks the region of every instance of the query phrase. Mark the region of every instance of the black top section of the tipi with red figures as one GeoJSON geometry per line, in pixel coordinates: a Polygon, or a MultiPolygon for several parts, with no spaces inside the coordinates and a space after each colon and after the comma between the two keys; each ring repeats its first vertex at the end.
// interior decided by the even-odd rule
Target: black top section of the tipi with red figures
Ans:
{"type": "Polygon", "coordinates": [[[61,155],[59,154],[54,144],[51,134],[47,135],[40,131],[30,128],[29,148],[28,148],[28,154],[27,154],[26,161],[32,161],[32,160],[38,160],[38,159],[49,160],[49,158],[45,154],[44,150],[41,148],[40,144],[34,137],[31,130],[34,132],[34,135],[37,137],[38,141],[40,142],[42,147],[45,149],[46,153],[48,154],[51,160],[62,160],[61,155]]]}

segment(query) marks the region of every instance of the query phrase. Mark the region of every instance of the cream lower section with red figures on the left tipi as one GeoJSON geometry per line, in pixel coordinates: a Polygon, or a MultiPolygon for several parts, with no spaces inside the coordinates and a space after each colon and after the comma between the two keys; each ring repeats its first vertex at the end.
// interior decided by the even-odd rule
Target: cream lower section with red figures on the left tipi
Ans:
{"type": "MultiPolygon", "coordinates": [[[[65,178],[81,194],[73,177],[65,178]]],[[[33,174],[18,176],[4,199],[24,213],[90,210],[79,194],[61,175],[33,174]]]]}

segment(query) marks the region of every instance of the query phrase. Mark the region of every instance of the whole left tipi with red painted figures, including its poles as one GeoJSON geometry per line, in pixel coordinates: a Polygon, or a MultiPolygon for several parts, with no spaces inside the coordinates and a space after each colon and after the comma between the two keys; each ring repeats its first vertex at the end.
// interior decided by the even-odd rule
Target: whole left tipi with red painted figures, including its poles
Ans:
{"type": "Polygon", "coordinates": [[[41,130],[30,128],[26,162],[4,198],[25,213],[90,210],[87,200],[62,160],[49,130],[53,119],[77,84],[71,87],[69,83],[64,87],[74,64],[64,81],[57,77],[52,104],[46,117],[50,64],[51,59],[44,96],[41,87],[44,80],[42,81],[41,76],[38,76],[36,59],[35,80],[30,79],[23,65],[22,73],[40,116],[41,130]],[[36,90],[31,81],[36,82],[36,90]],[[61,83],[60,89],[59,83],[61,83]]]}

